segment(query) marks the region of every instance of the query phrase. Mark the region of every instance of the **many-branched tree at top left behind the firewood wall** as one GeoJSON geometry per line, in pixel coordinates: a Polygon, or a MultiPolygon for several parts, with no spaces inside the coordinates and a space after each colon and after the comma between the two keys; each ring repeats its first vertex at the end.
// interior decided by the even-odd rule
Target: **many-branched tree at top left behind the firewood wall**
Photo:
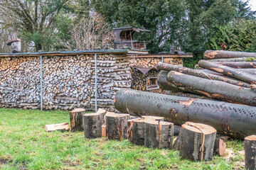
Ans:
{"type": "Polygon", "coordinates": [[[49,50],[56,30],[56,17],[68,8],[68,0],[0,0],[1,13],[18,26],[21,36],[33,42],[36,51],[49,50]]]}

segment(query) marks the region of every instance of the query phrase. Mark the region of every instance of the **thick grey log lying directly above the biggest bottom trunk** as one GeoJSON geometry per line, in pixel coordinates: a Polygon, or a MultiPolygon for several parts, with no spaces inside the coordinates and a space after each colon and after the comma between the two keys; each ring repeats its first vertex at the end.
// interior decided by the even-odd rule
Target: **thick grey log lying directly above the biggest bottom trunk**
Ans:
{"type": "Polygon", "coordinates": [[[208,98],[217,98],[231,103],[243,103],[256,106],[256,93],[250,88],[235,86],[223,81],[215,81],[193,77],[188,74],[171,71],[167,76],[168,81],[175,84],[178,88],[190,88],[195,93],[200,93],[208,98]]]}

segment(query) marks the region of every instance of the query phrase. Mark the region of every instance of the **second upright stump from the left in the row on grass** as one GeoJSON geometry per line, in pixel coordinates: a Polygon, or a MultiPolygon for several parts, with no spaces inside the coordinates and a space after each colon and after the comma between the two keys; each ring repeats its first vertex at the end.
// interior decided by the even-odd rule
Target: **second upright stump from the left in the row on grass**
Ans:
{"type": "Polygon", "coordinates": [[[102,125],[104,124],[105,113],[85,113],[82,115],[85,138],[102,137],[102,125]]]}

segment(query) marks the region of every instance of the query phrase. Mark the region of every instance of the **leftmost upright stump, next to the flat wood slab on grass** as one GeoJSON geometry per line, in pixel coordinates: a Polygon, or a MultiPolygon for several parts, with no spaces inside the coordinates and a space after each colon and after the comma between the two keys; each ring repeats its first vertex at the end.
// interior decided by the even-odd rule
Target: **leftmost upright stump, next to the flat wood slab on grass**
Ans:
{"type": "Polygon", "coordinates": [[[70,111],[70,131],[82,131],[84,130],[82,123],[82,115],[85,113],[84,108],[75,108],[70,111]]]}

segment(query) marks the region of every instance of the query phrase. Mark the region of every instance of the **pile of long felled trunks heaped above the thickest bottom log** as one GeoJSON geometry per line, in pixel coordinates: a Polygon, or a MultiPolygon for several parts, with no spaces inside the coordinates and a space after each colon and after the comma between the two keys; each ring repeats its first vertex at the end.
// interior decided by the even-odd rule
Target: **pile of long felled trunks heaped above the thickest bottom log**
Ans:
{"type": "Polygon", "coordinates": [[[230,103],[256,106],[256,78],[252,74],[256,72],[256,62],[251,62],[254,57],[256,53],[252,52],[206,51],[205,60],[198,62],[203,69],[159,62],[158,69],[162,70],[159,86],[164,90],[176,89],[230,103]]]}

